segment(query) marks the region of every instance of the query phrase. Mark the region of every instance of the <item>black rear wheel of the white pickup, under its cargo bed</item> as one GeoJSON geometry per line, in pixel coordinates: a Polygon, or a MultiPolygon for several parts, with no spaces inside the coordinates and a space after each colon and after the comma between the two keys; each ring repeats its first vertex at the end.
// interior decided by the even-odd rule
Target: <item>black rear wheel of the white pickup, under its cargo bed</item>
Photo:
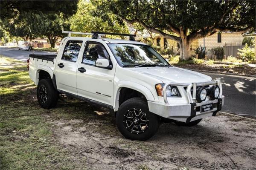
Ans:
{"type": "Polygon", "coordinates": [[[50,78],[39,81],[36,94],[38,103],[44,109],[55,107],[58,102],[59,94],[58,91],[54,89],[50,78]]]}

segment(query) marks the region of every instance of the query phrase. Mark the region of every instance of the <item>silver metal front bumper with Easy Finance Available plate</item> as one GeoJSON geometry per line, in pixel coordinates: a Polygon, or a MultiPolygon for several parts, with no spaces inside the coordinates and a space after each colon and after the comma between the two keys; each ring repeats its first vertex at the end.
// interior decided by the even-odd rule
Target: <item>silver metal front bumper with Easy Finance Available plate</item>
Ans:
{"type": "Polygon", "coordinates": [[[148,101],[148,108],[150,112],[153,112],[164,118],[170,118],[186,123],[209,116],[215,116],[216,113],[221,110],[223,105],[224,95],[221,95],[220,98],[212,101],[190,104],[166,104],[155,101],[148,101]],[[213,104],[212,110],[201,112],[201,105],[211,103],[213,104]]]}

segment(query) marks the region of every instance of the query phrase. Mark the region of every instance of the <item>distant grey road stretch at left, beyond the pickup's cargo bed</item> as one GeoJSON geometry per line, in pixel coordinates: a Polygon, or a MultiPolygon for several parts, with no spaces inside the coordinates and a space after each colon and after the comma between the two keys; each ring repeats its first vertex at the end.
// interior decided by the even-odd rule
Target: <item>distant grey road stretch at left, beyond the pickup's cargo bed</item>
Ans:
{"type": "MultiPolygon", "coordinates": [[[[29,55],[33,51],[19,50],[19,48],[8,48],[0,46],[0,55],[5,55],[7,57],[15,58],[21,61],[26,61],[29,58],[29,55]]],[[[44,52],[44,51],[35,51],[35,54],[56,54],[55,52],[44,52]]]]}

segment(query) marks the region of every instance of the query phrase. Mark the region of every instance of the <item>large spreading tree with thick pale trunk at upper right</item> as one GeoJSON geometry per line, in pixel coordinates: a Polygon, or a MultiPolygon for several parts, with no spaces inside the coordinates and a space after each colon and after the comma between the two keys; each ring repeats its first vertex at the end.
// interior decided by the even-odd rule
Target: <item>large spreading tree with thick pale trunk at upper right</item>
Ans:
{"type": "MultiPolygon", "coordinates": [[[[98,9],[111,10],[128,23],[177,41],[180,58],[191,56],[191,43],[218,31],[246,32],[255,28],[255,1],[105,1],[98,9]]],[[[102,15],[99,12],[99,16],[102,15]]]]}

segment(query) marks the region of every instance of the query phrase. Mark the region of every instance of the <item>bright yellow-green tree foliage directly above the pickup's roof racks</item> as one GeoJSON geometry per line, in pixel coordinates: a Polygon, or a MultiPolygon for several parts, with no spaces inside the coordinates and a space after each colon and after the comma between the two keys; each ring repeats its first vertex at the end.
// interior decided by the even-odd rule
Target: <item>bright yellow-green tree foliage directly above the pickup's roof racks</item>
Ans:
{"type": "MultiPolygon", "coordinates": [[[[96,3],[101,3],[97,1],[96,3]]],[[[108,12],[105,13],[105,19],[93,15],[96,12],[96,6],[90,1],[79,0],[78,10],[70,18],[70,29],[74,32],[118,32],[129,33],[127,26],[118,22],[117,17],[108,12]]]]}

